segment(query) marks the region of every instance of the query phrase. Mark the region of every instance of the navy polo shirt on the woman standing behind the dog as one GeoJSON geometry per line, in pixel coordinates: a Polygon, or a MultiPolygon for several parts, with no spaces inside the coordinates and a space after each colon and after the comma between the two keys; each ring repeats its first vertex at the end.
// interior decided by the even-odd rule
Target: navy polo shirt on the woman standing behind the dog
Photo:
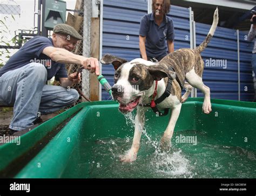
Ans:
{"type": "Polygon", "coordinates": [[[166,39],[174,40],[173,21],[164,16],[163,22],[158,26],[154,20],[154,13],[142,17],[140,21],[140,36],[146,36],[146,53],[151,57],[163,57],[167,54],[166,39]]]}

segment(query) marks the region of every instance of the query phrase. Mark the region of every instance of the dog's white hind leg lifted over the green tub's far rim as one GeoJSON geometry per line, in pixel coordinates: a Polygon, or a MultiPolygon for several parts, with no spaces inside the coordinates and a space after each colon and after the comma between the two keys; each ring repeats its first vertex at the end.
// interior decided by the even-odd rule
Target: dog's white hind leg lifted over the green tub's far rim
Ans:
{"type": "Polygon", "coordinates": [[[186,73],[186,80],[194,88],[197,88],[204,93],[205,97],[204,97],[204,103],[203,103],[203,112],[205,114],[209,114],[212,111],[211,99],[210,99],[210,88],[204,85],[202,78],[198,74],[196,74],[196,72],[194,71],[194,68],[191,69],[190,72],[186,73]]]}

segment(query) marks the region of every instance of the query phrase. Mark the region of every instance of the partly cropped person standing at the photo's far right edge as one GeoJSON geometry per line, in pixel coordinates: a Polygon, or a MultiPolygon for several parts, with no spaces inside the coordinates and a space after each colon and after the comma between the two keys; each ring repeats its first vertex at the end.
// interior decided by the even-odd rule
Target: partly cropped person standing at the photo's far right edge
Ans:
{"type": "Polygon", "coordinates": [[[251,29],[248,34],[248,41],[253,41],[254,47],[252,50],[252,70],[253,70],[253,85],[254,85],[254,102],[256,102],[256,15],[253,15],[251,18],[251,29]]]}

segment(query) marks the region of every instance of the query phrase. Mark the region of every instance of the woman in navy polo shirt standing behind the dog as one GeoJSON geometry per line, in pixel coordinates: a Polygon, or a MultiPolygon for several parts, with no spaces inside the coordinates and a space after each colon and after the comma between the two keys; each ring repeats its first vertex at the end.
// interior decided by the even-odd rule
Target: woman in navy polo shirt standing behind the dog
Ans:
{"type": "Polygon", "coordinates": [[[170,5],[170,0],[153,0],[152,13],[143,16],[140,21],[139,50],[145,60],[154,57],[160,61],[167,54],[166,46],[169,53],[174,51],[173,21],[166,16],[170,5]]]}

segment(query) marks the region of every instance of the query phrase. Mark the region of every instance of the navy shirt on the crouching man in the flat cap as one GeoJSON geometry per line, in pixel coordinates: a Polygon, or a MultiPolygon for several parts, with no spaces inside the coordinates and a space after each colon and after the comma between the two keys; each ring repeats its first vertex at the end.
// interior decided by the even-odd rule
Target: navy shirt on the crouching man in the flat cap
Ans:
{"type": "Polygon", "coordinates": [[[47,70],[47,80],[50,80],[53,76],[56,77],[56,80],[67,78],[68,72],[66,71],[65,64],[55,62],[42,53],[44,48],[48,46],[53,47],[51,38],[43,36],[31,38],[0,69],[0,76],[8,71],[28,65],[31,62],[39,62],[47,70]]]}

